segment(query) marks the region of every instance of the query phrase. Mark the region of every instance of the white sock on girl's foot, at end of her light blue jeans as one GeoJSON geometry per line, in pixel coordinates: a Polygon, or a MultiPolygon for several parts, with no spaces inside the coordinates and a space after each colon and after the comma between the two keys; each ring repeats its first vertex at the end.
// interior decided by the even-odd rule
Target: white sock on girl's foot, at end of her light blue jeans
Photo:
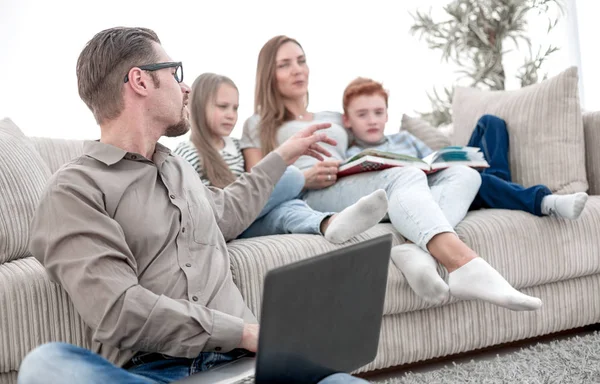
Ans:
{"type": "Polygon", "coordinates": [[[336,244],[346,242],[379,223],[387,209],[387,195],[378,189],[337,213],[325,230],[325,238],[336,244]]]}

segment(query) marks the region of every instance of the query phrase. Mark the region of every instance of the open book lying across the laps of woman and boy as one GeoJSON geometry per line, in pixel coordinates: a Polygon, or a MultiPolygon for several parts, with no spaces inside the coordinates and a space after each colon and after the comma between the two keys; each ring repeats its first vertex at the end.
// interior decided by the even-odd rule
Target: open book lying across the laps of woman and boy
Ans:
{"type": "Polygon", "coordinates": [[[340,165],[338,177],[406,166],[422,169],[425,173],[433,173],[458,164],[471,168],[488,168],[490,166],[485,161],[483,153],[476,147],[445,147],[423,159],[376,149],[365,149],[340,165]]]}

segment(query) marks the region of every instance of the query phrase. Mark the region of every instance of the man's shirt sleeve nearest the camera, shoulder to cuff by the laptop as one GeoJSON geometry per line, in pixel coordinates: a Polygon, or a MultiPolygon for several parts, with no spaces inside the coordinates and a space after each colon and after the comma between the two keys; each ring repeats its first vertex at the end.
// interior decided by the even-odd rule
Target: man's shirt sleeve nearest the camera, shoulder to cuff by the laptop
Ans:
{"type": "Polygon", "coordinates": [[[124,232],[92,183],[82,175],[50,184],[34,215],[30,251],[67,291],[94,340],[186,358],[214,345],[236,348],[242,319],[139,284],[124,232]]]}

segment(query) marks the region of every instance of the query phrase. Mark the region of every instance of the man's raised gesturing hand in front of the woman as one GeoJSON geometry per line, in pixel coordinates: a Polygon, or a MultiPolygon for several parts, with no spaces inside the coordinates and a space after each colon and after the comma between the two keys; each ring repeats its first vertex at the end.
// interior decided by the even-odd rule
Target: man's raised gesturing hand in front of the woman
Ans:
{"type": "Polygon", "coordinates": [[[323,132],[318,132],[321,129],[331,127],[330,123],[313,124],[310,127],[298,131],[294,136],[287,139],[283,144],[275,149],[286,162],[287,165],[292,165],[302,155],[312,156],[318,160],[323,160],[323,156],[331,156],[331,153],[321,147],[318,142],[336,145],[337,142],[323,132]]]}

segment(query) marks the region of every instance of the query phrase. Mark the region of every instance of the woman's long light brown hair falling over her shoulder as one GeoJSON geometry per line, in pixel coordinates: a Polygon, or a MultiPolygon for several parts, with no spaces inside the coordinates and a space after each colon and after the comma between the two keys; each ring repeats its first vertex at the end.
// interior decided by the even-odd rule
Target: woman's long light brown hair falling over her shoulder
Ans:
{"type": "Polygon", "coordinates": [[[277,148],[277,130],[294,115],[285,107],[283,97],[277,88],[275,72],[277,70],[277,51],[285,43],[296,40],[287,36],[275,36],[260,50],[256,66],[256,88],[254,90],[254,113],[259,115],[260,143],[263,155],[277,148]]]}

